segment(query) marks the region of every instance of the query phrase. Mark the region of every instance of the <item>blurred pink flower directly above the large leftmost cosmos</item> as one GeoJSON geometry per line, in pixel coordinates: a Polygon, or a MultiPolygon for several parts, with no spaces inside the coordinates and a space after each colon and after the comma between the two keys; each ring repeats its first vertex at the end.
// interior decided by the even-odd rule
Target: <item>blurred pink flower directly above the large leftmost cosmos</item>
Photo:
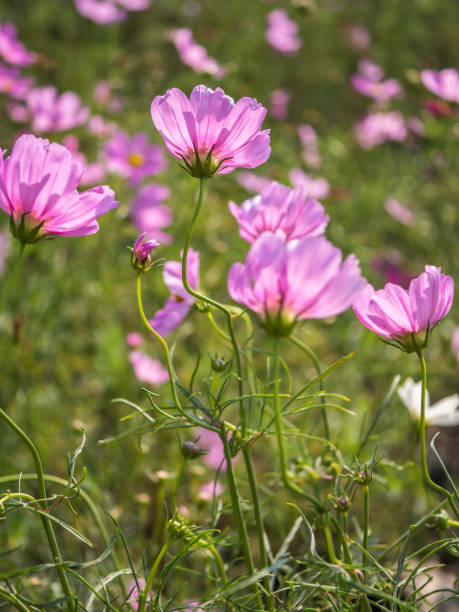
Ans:
{"type": "Polygon", "coordinates": [[[27,112],[34,132],[61,132],[82,125],[89,108],[81,105],[73,91],[59,95],[55,87],[35,87],[26,98],[27,112]]]}

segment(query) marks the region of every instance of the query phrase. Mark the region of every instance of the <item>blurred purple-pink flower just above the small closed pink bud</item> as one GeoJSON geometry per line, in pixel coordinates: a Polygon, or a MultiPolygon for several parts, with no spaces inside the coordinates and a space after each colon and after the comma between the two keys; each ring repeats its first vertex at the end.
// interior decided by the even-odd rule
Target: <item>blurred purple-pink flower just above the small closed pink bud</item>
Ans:
{"type": "Polygon", "coordinates": [[[131,219],[139,232],[147,232],[163,244],[172,241],[171,235],[162,231],[172,223],[171,209],[162,203],[169,193],[165,185],[149,183],[140,189],[131,206],[131,219]]]}

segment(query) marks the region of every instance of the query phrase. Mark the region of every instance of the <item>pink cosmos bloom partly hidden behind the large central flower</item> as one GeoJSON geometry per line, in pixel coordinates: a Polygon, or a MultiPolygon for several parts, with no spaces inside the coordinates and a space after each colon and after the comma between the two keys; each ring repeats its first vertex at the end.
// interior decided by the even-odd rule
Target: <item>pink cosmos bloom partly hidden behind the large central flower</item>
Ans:
{"type": "Polygon", "coordinates": [[[229,209],[239,224],[239,234],[248,242],[255,242],[263,232],[273,232],[285,241],[320,236],[329,220],[323,206],[308,198],[302,187],[291,189],[276,181],[240,208],[230,202],[229,209]]]}

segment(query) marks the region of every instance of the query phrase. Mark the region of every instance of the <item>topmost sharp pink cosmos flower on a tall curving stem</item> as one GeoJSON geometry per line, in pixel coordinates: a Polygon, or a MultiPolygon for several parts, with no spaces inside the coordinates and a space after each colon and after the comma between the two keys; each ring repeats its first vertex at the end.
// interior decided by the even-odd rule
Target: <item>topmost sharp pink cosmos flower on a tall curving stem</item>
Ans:
{"type": "Polygon", "coordinates": [[[260,131],[266,109],[254,98],[234,100],[218,88],[198,85],[190,99],[180,89],[156,96],[151,116],[168,151],[192,176],[255,168],[270,153],[269,130],[260,131]]]}

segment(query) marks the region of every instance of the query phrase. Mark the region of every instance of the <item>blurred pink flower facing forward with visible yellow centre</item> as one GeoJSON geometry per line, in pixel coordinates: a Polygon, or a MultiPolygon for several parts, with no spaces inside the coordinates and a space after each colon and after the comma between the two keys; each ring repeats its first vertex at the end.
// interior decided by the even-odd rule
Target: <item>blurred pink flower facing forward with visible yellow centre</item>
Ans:
{"type": "Polygon", "coordinates": [[[145,176],[155,176],[167,166],[162,148],[150,144],[144,132],[130,137],[126,132],[118,132],[104,148],[107,168],[138,185],[145,176]]]}

